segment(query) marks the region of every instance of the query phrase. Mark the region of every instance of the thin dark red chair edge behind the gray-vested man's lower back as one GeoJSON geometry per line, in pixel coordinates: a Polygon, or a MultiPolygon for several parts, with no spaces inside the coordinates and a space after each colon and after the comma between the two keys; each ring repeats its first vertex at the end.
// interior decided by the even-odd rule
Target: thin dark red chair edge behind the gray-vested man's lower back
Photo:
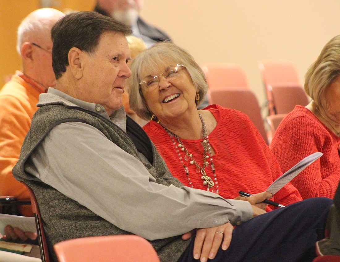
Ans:
{"type": "Polygon", "coordinates": [[[35,195],[34,195],[32,189],[31,189],[31,187],[29,187],[24,182],[22,182],[22,183],[26,186],[28,192],[30,193],[32,211],[34,213],[35,225],[37,227],[37,233],[38,233],[38,241],[39,241],[39,246],[40,246],[41,261],[42,262],[50,262],[45,231],[44,231],[44,228],[43,228],[43,220],[41,219],[37,199],[35,198],[35,195]]]}

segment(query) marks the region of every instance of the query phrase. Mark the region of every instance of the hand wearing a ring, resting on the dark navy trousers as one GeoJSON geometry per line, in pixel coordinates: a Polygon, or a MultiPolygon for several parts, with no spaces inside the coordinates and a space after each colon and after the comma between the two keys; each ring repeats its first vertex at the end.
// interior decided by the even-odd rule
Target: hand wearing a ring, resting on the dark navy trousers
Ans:
{"type": "MultiPolygon", "coordinates": [[[[232,240],[232,233],[234,227],[230,223],[218,227],[200,228],[196,231],[196,237],[193,247],[193,257],[200,259],[201,262],[206,262],[209,259],[213,259],[221,246],[222,249],[226,250],[229,247],[230,241],[232,240]]],[[[190,232],[182,236],[188,236],[190,232]]]]}

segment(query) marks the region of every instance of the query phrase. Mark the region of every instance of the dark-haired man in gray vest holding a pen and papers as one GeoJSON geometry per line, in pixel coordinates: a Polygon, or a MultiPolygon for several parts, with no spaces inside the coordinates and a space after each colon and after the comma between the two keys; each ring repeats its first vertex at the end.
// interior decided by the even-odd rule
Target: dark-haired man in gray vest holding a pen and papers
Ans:
{"type": "Polygon", "coordinates": [[[163,262],[311,260],[330,199],[265,213],[268,192],[224,199],[170,174],[122,107],[130,33],[95,12],[68,14],[52,28],[56,85],[40,95],[13,169],[36,195],[52,259],[63,240],[137,234],[163,262]]]}

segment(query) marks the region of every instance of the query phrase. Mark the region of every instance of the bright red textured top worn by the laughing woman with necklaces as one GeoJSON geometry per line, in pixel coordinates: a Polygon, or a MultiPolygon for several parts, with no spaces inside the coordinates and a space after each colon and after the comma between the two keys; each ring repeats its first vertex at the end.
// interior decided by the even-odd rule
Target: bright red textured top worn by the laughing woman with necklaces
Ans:
{"type": "MultiPolygon", "coordinates": [[[[219,194],[224,198],[235,198],[239,196],[239,190],[251,194],[265,191],[278,176],[282,175],[282,172],[252,121],[237,110],[222,108],[219,105],[209,105],[205,109],[217,120],[217,126],[209,134],[208,139],[215,150],[212,158],[216,168],[219,194]]],[[[156,145],[173,176],[189,186],[183,165],[165,129],[155,121],[151,121],[143,128],[156,145]]],[[[182,142],[202,166],[202,139],[183,139],[182,142]]],[[[184,153],[181,153],[181,156],[184,160],[184,153]]],[[[201,174],[196,172],[196,166],[191,165],[189,161],[184,160],[184,164],[189,168],[189,178],[193,187],[207,190],[207,186],[202,183],[201,174]]],[[[210,161],[205,170],[207,175],[213,178],[210,161]]],[[[297,189],[289,183],[277,192],[272,200],[288,205],[302,198],[297,189]]],[[[267,211],[272,209],[273,206],[268,206],[267,211]]]]}

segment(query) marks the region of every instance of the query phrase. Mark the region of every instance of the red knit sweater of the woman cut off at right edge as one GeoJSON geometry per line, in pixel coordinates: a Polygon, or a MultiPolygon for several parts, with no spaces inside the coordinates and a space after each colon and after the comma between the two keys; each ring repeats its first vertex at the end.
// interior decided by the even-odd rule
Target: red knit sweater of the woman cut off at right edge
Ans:
{"type": "Polygon", "coordinates": [[[333,198],[340,179],[338,147],[340,137],[330,131],[311,111],[296,105],[280,123],[270,148],[282,171],[314,152],[322,152],[316,160],[291,182],[303,198],[333,198]]]}

